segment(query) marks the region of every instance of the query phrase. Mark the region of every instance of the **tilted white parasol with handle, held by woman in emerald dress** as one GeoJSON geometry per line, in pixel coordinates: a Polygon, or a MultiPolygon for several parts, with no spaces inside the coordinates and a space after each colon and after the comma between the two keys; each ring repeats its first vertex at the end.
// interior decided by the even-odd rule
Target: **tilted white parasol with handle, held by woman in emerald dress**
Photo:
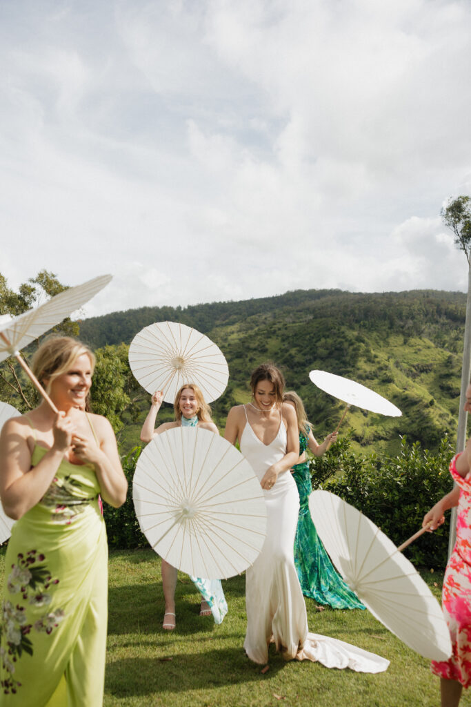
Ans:
{"type": "Polygon", "coordinates": [[[338,431],[342,420],[347,414],[347,410],[352,405],[390,417],[399,417],[402,415],[400,409],[395,407],[392,402],[389,402],[389,400],[382,395],[378,395],[374,390],[370,390],[366,385],[350,380],[350,378],[344,378],[342,375],[335,375],[335,373],[328,373],[326,370],[311,370],[309,378],[311,378],[314,385],[321,388],[324,392],[347,403],[347,407],[335,432],[338,431]]]}

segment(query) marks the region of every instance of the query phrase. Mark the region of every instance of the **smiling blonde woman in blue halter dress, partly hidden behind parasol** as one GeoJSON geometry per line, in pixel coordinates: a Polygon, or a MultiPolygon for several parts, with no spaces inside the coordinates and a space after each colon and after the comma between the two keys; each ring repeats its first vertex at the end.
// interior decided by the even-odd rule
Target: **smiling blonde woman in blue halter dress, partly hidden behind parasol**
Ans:
{"type": "MultiPolygon", "coordinates": [[[[209,405],[205,402],[203,393],[194,383],[182,385],[174,400],[174,421],[164,422],[155,428],[157,412],[164,399],[162,390],[156,390],[152,396],[150,410],[141,430],[141,440],[150,442],[156,435],[162,434],[174,427],[202,427],[215,434],[219,430],[211,420],[209,405]]],[[[220,580],[208,580],[191,577],[196,588],[201,592],[200,616],[213,614],[216,624],[221,624],[227,614],[227,604],[220,580]]],[[[177,568],[170,565],[162,557],[162,589],[165,600],[165,614],[162,629],[172,631],[176,626],[175,588],[177,587],[177,568]]]]}

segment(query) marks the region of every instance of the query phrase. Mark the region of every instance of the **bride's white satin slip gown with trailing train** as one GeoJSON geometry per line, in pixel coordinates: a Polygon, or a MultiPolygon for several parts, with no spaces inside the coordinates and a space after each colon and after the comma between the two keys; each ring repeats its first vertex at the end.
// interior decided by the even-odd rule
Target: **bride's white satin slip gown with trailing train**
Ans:
{"type": "MultiPolygon", "coordinates": [[[[286,454],[286,428],[281,419],[269,445],[258,439],[246,414],[240,440],[242,454],[261,481],[267,469],[286,454]]],[[[286,660],[319,661],[326,667],[350,667],[358,672],[382,672],[389,661],[336,638],[309,633],[306,604],[294,566],[294,537],[299,513],[296,481],[287,470],[269,491],[263,491],[268,514],[261,554],[246,571],[246,654],[256,663],[268,662],[268,644],[275,641],[286,660]]]]}

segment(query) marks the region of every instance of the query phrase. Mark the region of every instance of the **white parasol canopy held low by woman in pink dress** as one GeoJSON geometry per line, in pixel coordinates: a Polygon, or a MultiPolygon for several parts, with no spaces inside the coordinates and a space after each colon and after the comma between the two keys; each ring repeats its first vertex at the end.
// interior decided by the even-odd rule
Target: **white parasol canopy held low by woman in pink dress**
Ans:
{"type": "Polygon", "coordinates": [[[366,515],[329,491],[314,491],[309,510],[342,577],[378,621],[424,658],[451,655],[439,602],[395,544],[366,515]]]}

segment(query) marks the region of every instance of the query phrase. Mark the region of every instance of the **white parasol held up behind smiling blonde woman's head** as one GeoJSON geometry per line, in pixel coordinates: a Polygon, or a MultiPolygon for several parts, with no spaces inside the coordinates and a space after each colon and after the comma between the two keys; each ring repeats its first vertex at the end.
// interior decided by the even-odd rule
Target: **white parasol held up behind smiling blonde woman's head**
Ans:
{"type": "Polygon", "coordinates": [[[129,366],[145,390],[162,390],[165,402],[171,403],[184,383],[196,383],[205,401],[212,402],[229,378],[219,347],[205,334],[175,322],[141,329],[129,346],[129,366]]]}

